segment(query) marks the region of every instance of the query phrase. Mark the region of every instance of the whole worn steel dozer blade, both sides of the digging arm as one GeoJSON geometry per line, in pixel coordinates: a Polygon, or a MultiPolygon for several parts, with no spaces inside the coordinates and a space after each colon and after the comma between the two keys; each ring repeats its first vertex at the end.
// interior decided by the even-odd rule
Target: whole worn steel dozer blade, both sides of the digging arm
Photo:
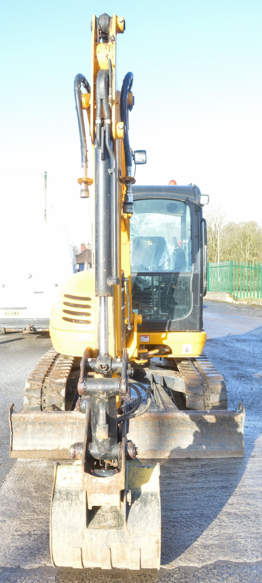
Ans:
{"type": "MultiPolygon", "coordinates": [[[[214,458],[244,455],[244,408],[238,411],[178,411],[153,405],[130,419],[127,438],[138,457],[214,458]]],[[[76,411],[16,413],[10,409],[12,458],[69,459],[83,441],[85,415],[76,411]]]]}

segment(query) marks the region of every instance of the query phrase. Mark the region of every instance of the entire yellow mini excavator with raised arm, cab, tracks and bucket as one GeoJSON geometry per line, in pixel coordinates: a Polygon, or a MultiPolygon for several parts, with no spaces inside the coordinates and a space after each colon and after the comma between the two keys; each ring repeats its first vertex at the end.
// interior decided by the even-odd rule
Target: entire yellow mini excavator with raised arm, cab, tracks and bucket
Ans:
{"type": "Polygon", "coordinates": [[[74,83],[81,197],[95,187],[95,269],[60,290],[53,348],[10,409],[13,458],[54,459],[54,566],[160,567],[159,463],[244,455],[244,408],[202,354],[207,290],[204,203],[193,184],[135,186],[128,117],[133,74],[117,89],[123,17],[92,20],[90,84],[74,83]],[[82,89],[83,88],[83,89],[82,89]],[[93,150],[88,176],[84,112],[93,150]]]}

